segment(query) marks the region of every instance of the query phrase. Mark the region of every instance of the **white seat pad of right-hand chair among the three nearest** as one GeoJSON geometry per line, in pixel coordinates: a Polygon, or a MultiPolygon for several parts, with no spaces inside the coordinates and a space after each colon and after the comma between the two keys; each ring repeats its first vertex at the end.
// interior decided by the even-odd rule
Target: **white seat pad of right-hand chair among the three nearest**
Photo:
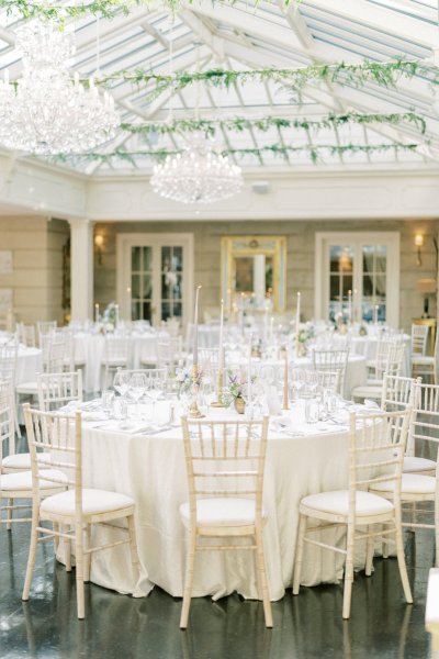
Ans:
{"type": "MultiPolygon", "coordinates": [[[[302,499],[300,507],[302,509],[302,506],[312,507],[324,513],[347,516],[349,514],[349,491],[334,490],[331,492],[309,494],[302,499]]],[[[382,496],[363,491],[356,493],[357,517],[381,515],[392,511],[393,504],[382,496]]]]}

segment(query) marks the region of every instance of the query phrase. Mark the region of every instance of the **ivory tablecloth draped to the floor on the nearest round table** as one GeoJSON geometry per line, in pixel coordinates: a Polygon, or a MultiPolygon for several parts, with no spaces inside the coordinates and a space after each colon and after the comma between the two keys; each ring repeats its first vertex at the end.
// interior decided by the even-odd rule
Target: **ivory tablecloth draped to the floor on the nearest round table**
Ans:
{"type": "MultiPolygon", "coordinates": [[[[134,498],[142,565],[140,578],[133,583],[130,550],[126,545],[120,546],[93,557],[91,580],[136,596],[146,595],[154,584],[173,596],[181,596],[185,530],[179,506],[188,500],[181,428],[148,436],[90,425],[83,423],[85,485],[134,498]]],[[[304,436],[289,436],[271,428],[269,432],[263,495],[268,523],[263,538],[273,601],[281,599],[292,582],[300,500],[306,494],[347,485],[348,428],[326,424],[322,429],[320,425],[303,425],[304,436]]],[[[105,537],[117,534],[108,528],[93,533],[105,534],[105,537]]],[[[325,533],[337,533],[338,538],[342,538],[340,529],[325,533]]],[[[307,547],[302,583],[338,581],[342,576],[342,561],[339,554],[307,547]]],[[[198,555],[193,595],[218,599],[233,591],[248,599],[258,597],[256,574],[247,552],[198,555]]]]}

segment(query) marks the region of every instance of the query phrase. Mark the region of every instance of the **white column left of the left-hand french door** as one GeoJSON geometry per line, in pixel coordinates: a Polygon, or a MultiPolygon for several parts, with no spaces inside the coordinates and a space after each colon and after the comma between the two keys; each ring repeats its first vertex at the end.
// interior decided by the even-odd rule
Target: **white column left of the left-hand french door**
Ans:
{"type": "Polygon", "coordinates": [[[71,320],[93,317],[93,224],[70,220],[71,320]]]}

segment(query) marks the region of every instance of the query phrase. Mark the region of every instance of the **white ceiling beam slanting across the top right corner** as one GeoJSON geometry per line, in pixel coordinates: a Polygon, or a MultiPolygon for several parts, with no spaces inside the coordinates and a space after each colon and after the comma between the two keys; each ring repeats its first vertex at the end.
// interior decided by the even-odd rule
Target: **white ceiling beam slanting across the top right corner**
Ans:
{"type": "Polygon", "coordinates": [[[416,21],[403,12],[392,11],[365,0],[304,0],[303,9],[314,7],[382,32],[399,40],[430,48],[438,44],[438,27],[425,21],[416,21]]]}

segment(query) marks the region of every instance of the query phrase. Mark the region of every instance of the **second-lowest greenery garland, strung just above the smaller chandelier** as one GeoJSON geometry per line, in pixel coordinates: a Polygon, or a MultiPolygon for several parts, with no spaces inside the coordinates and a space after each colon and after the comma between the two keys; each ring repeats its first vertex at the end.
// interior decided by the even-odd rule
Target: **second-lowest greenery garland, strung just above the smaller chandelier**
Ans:
{"type": "Polygon", "coordinates": [[[144,124],[122,123],[121,130],[126,133],[143,135],[170,135],[175,133],[202,132],[214,136],[217,130],[227,130],[241,133],[245,130],[255,129],[267,133],[270,129],[296,129],[303,131],[319,131],[322,129],[336,129],[347,124],[369,125],[374,123],[398,125],[402,122],[413,123],[421,135],[426,132],[426,122],[423,116],[415,112],[386,113],[386,114],[362,114],[360,112],[346,112],[344,114],[329,113],[322,119],[285,119],[281,116],[246,118],[235,116],[230,119],[180,119],[171,122],[148,122],[144,124]]]}

